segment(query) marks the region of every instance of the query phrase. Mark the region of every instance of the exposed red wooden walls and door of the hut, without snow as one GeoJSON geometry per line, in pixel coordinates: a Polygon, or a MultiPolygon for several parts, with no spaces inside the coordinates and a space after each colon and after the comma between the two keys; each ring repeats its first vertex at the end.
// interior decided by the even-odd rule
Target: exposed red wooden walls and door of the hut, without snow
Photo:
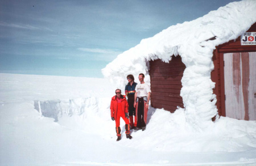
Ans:
{"type": "MultiPolygon", "coordinates": [[[[213,92],[220,116],[256,120],[256,23],[247,32],[252,32],[250,45],[243,45],[245,39],[238,37],[216,47],[211,78],[216,83],[213,92]]],[[[180,56],[173,57],[169,63],[160,59],[150,61],[152,107],[170,112],[184,107],[180,96],[184,70],[180,56]]]]}

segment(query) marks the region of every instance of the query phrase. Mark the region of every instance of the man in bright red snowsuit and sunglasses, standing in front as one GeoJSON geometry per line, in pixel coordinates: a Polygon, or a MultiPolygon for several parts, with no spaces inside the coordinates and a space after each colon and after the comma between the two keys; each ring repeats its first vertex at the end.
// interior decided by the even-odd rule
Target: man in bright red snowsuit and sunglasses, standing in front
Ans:
{"type": "Polygon", "coordinates": [[[110,110],[111,118],[115,120],[115,131],[117,132],[117,141],[121,139],[121,128],[120,128],[120,118],[122,117],[125,121],[125,134],[126,138],[132,139],[130,135],[130,122],[128,115],[128,103],[125,95],[121,95],[121,90],[115,90],[115,96],[112,97],[110,110]]]}

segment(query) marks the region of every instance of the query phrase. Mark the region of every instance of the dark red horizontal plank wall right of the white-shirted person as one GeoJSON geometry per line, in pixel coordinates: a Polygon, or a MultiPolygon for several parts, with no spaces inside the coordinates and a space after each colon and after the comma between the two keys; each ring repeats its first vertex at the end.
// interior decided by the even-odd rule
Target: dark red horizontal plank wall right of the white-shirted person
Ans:
{"type": "Polygon", "coordinates": [[[185,65],[181,57],[172,57],[169,63],[160,59],[150,61],[151,106],[174,112],[177,106],[184,108],[180,96],[181,78],[185,65]]]}

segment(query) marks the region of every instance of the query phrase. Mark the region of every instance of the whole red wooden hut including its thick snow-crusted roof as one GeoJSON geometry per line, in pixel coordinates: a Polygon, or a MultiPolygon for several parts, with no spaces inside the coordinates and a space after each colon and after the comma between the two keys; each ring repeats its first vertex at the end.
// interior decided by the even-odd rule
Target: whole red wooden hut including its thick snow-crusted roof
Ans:
{"type": "Polygon", "coordinates": [[[151,106],[184,108],[196,127],[219,115],[256,120],[255,8],[255,1],[232,2],[172,25],[119,54],[102,73],[119,87],[126,75],[144,73],[151,106]]]}

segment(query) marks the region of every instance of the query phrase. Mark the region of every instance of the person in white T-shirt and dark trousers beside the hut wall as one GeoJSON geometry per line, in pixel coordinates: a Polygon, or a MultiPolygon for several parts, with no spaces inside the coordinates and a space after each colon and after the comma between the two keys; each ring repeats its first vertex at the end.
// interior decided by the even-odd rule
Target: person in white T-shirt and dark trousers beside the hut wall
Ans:
{"type": "Polygon", "coordinates": [[[147,123],[147,110],[148,102],[150,101],[150,86],[144,82],[144,74],[139,74],[139,81],[141,83],[137,84],[135,88],[134,95],[134,107],[136,108],[136,118],[137,126],[135,130],[144,131],[146,129],[147,123]]]}

